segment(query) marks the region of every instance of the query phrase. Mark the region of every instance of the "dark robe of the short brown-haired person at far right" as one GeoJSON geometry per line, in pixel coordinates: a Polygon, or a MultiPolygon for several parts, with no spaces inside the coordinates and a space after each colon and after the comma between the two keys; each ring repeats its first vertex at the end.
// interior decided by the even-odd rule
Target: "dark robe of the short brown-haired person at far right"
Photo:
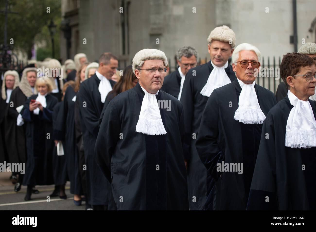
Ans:
{"type": "MultiPolygon", "coordinates": [[[[315,101],[308,101],[316,118],[315,101]]],[[[264,121],[247,210],[316,210],[316,147],[285,146],[292,108],[286,96],[264,121]]]]}

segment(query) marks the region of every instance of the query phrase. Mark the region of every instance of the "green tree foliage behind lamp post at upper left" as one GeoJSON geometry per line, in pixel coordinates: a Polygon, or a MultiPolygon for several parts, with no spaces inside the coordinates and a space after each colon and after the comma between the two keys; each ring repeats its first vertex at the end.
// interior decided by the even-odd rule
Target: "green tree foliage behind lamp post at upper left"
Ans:
{"type": "MultiPolygon", "coordinates": [[[[10,39],[14,39],[14,49],[20,49],[27,53],[28,58],[32,56],[32,46],[36,42],[43,42],[46,46],[42,50],[51,51],[51,37],[47,25],[53,19],[57,25],[54,35],[55,58],[59,58],[59,37],[61,22],[60,1],[56,0],[8,0],[8,10],[18,12],[18,14],[8,14],[7,44],[10,39]],[[50,7],[50,13],[47,13],[50,7]]],[[[5,10],[5,0],[0,0],[0,9],[5,10]]],[[[0,13],[0,43],[4,39],[4,12],[0,13]]],[[[41,52],[41,50],[39,51],[41,52]]],[[[49,57],[51,57],[51,52],[49,57]]]]}

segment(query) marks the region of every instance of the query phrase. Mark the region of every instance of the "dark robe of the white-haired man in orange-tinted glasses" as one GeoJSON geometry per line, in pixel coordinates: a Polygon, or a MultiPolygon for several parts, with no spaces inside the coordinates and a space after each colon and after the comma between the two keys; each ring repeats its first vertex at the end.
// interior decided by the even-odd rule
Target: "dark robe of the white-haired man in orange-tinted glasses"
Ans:
{"type": "MultiPolygon", "coordinates": [[[[267,115],[276,104],[274,94],[257,84],[254,88],[260,109],[267,115]]],[[[246,210],[262,124],[243,124],[234,119],[240,92],[237,79],[212,92],[197,136],[198,155],[215,182],[208,188],[208,196],[215,193],[215,197],[206,202],[207,208],[214,210],[246,210]],[[222,161],[243,163],[243,173],[217,171],[222,161]]]]}

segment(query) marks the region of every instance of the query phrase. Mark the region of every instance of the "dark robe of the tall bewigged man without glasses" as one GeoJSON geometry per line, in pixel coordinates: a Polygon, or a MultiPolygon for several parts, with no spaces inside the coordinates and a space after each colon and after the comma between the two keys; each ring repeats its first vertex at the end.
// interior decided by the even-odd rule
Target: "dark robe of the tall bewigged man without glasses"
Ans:
{"type": "MultiPolygon", "coordinates": [[[[205,86],[213,66],[211,62],[191,68],[185,76],[181,93],[185,119],[185,140],[183,145],[184,158],[189,160],[188,171],[188,197],[190,210],[204,210],[206,201],[213,199],[207,195],[207,188],[213,186],[212,178],[207,175],[206,168],[201,162],[195,142],[200,127],[202,114],[209,99],[200,92],[205,86]],[[195,75],[193,75],[195,74],[195,75]],[[194,133],[194,134],[193,134],[194,133]],[[207,199],[208,198],[208,199],[207,199]],[[196,201],[193,201],[195,199],[196,201]]],[[[232,66],[228,64],[225,72],[231,81],[236,79],[232,66]]]]}

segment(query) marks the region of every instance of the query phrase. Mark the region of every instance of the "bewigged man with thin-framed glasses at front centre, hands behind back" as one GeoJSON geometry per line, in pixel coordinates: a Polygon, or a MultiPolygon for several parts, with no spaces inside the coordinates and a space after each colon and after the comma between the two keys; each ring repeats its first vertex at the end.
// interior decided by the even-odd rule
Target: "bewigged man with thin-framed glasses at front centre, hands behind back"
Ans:
{"type": "Polygon", "coordinates": [[[137,52],[138,84],[114,97],[104,113],[94,155],[118,210],[188,209],[183,109],[160,90],[165,66],[164,52],[137,52]]]}

